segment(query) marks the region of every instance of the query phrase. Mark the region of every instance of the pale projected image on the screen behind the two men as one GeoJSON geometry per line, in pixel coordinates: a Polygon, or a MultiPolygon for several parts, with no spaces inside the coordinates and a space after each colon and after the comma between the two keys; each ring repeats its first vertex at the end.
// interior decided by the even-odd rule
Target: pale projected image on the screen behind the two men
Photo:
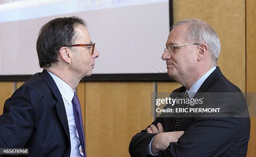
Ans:
{"type": "Polygon", "coordinates": [[[0,0],[0,75],[41,72],[36,54],[44,23],[79,16],[100,58],[93,73],[166,73],[169,0],[0,0]]]}

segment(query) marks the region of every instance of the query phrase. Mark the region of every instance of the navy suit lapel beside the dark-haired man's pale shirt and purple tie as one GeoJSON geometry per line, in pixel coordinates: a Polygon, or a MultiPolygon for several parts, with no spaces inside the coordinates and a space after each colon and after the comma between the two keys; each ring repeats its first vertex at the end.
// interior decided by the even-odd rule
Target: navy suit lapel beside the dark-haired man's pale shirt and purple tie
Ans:
{"type": "Polygon", "coordinates": [[[66,113],[66,109],[64,106],[64,102],[61,97],[61,93],[60,93],[56,83],[54,82],[54,79],[52,79],[51,75],[46,70],[43,70],[42,73],[40,74],[40,76],[46,82],[46,84],[48,84],[48,86],[50,87],[51,91],[53,92],[54,96],[56,97],[56,99],[58,101],[55,104],[57,114],[58,114],[61,124],[64,127],[64,130],[69,138],[69,143],[70,143],[69,124],[68,124],[68,120],[67,120],[67,113],[66,113]]]}

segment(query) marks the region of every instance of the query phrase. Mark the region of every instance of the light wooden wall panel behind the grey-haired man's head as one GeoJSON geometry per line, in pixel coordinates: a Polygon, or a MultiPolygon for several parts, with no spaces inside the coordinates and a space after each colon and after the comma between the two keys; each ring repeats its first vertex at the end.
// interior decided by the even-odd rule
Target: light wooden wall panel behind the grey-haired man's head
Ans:
{"type": "Polygon", "coordinates": [[[186,18],[207,21],[218,33],[218,59],[223,74],[245,91],[245,0],[173,0],[174,22],[186,18]]]}

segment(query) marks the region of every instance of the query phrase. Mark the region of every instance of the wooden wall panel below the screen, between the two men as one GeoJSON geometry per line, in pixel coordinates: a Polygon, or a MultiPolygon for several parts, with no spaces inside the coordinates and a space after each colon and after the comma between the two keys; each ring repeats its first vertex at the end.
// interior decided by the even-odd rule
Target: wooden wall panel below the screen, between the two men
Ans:
{"type": "Polygon", "coordinates": [[[84,88],[80,86],[85,86],[86,91],[84,112],[88,156],[128,157],[133,135],[153,120],[153,83],[89,82],[79,84],[78,93],[79,88],[84,88]]]}

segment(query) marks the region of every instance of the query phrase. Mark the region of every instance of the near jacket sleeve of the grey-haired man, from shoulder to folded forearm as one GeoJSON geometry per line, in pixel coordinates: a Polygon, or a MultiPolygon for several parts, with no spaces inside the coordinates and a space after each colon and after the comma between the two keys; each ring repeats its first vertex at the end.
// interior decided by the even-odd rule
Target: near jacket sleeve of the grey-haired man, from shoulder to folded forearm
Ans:
{"type": "MultiPolygon", "coordinates": [[[[241,94],[218,94],[207,99],[203,104],[207,108],[220,107],[218,114],[197,114],[178,142],[170,142],[169,147],[158,154],[158,157],[219,157],[238,142],[248,144],[250,120],[239,117],[241,106],[246,106],[241,94]]],[[[243,107],[242,107],[243,108],[243,107]]],[[[242,147],[242,146],[240,146],[242,147]]],[[[247,147],[247,146],[246,146],[247,147]]],[[[233,154],[246,156],[232,148],[233,154]]]]}

